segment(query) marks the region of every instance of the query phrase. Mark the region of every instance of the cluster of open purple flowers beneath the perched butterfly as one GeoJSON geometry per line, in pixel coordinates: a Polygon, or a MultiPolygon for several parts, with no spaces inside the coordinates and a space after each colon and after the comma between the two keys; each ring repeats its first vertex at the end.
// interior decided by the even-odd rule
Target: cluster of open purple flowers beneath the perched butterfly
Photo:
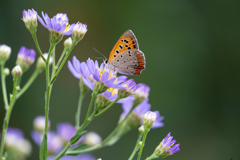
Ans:
{"type": "MultiPolygon", "coordinates": [[[[68,61],[68,68],[74,77],[83,79],[85,85],[93,91],[98,83],[105,86],[105,90],[99,94],[96,100],[96,105],[103,108],[120,97],[117,103],[121,103],[123,107],[121,119],[131,110],[135,100],[141,102],[137,103],[138,105],[133,109],[128,123],[134,127],[143,124],[144,114],[151,109],[151,105],[148,103],[150,88],[146,84],[136,84],[133,79],[127,80],[126,76],[117,76],[116,73],[105,68],[103,63],[99,67],[98,61],[94,62],[91,59],[88,59],[85,63],[80,62],[74,56],[72,63],[68,61]]],[[[156,114],[156,121],[152,128],[162,127],[164,117],[160,116],[159,111],[154,113],[156,114]]]]}

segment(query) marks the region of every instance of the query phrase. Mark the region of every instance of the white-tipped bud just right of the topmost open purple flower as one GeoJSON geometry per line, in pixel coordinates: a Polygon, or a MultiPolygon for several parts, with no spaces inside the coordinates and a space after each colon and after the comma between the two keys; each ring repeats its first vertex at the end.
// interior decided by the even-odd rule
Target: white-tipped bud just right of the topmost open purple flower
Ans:
{"type": "Polygon", "coordinates": [[[87,32],[87,25],[77,22],[77,24],[73,27],[72,39],[78,42],[81,39],[83,39],[86,32],[87,32]]]}

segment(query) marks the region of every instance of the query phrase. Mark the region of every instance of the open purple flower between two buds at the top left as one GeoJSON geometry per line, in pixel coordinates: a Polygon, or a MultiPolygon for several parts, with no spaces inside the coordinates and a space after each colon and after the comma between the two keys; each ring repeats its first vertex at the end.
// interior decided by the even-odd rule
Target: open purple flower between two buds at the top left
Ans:
{"type": "Polygon", "coordinates": [[[40,16],[38,16],[38,20],[49,31],[55,31],[62,35],[71,35],[72,34],[72,30],[73,30],[73,27],[75,26],[75,24],[72,24],[72,25],[68,24],[67,14],[58,13],[56,16],[53,16],[53,18],[49,18],[47,13],[44,14],[42,12],[42,17],[43,17],[43,19],[40,16]]]}

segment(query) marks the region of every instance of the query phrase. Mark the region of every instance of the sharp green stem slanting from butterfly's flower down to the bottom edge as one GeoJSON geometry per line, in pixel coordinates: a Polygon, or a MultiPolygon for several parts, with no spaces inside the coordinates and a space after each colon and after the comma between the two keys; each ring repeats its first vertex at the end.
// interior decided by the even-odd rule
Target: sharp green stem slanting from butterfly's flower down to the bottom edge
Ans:
{"type": "MultiPolygon", "coordinates": [[[[86,118],[83,122],[83,124],[81,125],[81,127],[76,130],[76,133],[81,133],[82,130],[85,128],[85,126],[94,118],[94,113],[89,117],[90,113],[91,113],[91,110],[92,110],[92,106],[93,106],[93,102],[96,98],[96,96],[98,95],[97,92],[93,92],[92,93],[92,99],[91,99],[91,102],[89,104],[89,107],[88,107],[88,112],[87,112],[87,115],[86,115],[86,118]]],[[[70,141],[68,142],[68,144],[64,147],[64,149],[53,159],[53,160],[58,160],[59,158],[61,158],[62,156],[65,155],[65,153],[67,152],[68,148],[71,146],[72,144],[70,143],[70,141]]]]}

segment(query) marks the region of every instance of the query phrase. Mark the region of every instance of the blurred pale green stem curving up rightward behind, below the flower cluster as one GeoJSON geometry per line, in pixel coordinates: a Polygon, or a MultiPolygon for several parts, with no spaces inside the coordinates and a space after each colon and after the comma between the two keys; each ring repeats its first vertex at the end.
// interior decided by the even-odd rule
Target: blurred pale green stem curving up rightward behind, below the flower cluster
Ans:
{"type": "MultiPolygon", "coordinates": [[[[110,104],[112,105],[112,104],[110,104]]],[[[79,151],[68,151],[66,153],[66,155],[72,155],[72,154],[79,154],[79,153],[85,153],[85,152],[90,152],[90,151],[94,151],[97,149],[100,149],[102,147],[104,147],[107,142],[116,134],[116,132],[122,127],[122,125],[124,124],[124,122],[127,120],[127,118],[129,117],[129,115],[131,114],[132,110],[135,108],[135,106],[132,106],[132,108],[130,109],[130,111],[128,112],[128,114],[124,117],[124,119],[119,123],[119,125],[112,131],[111,134],[109,134],[109,136],[102,141],[101,144],[93,146],[93,147],[89,147],[87,149],[83,149],[83,150],[79,150],[79,151]]]]}

